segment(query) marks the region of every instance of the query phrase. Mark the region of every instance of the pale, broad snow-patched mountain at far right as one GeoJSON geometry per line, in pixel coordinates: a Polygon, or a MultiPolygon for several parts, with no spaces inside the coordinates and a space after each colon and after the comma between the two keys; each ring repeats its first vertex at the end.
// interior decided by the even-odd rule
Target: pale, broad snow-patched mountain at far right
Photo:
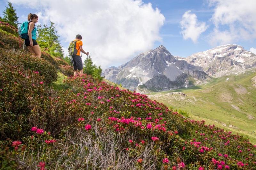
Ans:
{"type": "Polygon", "coordinates": [[[194,66],[201,67],[212,77],[240,74],[256,67],[256,55],[235,44],[222,45],[199,52],[185,60],[194,66]]]}

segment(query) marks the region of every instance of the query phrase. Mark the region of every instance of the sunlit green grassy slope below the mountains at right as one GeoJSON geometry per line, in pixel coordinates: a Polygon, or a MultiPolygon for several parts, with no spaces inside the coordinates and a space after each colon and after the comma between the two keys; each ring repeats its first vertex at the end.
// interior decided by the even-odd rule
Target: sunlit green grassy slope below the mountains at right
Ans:
{"type": "Polygon", "coordinates": [[[193,119],[247,135],[256,143],[256,87],[252,82],[255,76],[256,72],[225,76],[206,85],[150,93],[149,97],[187,110],[193,119]],[[184,92],[187,96],[170,92],[184,92]]]}

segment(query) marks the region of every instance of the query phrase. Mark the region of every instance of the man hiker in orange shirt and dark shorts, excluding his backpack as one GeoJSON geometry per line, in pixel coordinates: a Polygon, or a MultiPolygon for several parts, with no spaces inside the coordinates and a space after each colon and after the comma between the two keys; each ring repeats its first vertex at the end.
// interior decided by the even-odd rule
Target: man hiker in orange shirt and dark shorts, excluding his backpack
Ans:
{"type": "Polygon", "coordinates": [[[83,42],[81,41],[82,40],[82,36],[81,35],[76,35],[76,50],[77,50],[77,53],[75,56],[73,56],[73,66],[74,66],[74,76],[78,75],[78,72],[79,74],[84,74],[83,72],[83,62],[82,62],[82,56],[80,55],[80,52],[86,54],[86,55],[89,55],[89,52],[85,52],[84,49],[83,49],[83,42]]]}

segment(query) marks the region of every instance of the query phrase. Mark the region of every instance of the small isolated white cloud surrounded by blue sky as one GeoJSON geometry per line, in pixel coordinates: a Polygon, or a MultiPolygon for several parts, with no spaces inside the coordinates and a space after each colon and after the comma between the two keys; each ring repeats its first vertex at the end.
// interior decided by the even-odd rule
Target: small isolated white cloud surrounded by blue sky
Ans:
{"type": "Polygon", "coordinates": [[[181,33],[185,40],[190,38],[196,43],[200,34],[203,33],[208,26],[205,25],[205,22],[198,22],[196,14],[190,12],[190,10],[186,11],[182,16],[182,20],[180,21],[181,33]]]}

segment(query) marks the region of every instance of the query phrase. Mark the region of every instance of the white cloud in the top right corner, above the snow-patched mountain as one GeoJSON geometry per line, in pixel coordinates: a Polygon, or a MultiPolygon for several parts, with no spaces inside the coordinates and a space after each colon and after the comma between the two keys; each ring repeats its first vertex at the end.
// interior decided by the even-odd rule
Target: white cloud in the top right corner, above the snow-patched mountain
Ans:
{"type": "Polygon", "coordinates": [[[212,45],[249,41],[256,38],[255,0],[208,0],[214,7],[209,35],[212,45]]]}

